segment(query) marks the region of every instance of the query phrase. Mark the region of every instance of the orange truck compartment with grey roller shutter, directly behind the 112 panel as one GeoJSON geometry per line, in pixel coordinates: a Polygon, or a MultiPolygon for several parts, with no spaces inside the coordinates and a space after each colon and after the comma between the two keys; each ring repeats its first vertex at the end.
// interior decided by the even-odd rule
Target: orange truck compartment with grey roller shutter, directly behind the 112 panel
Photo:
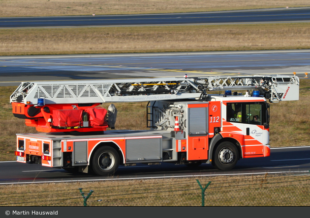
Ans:
{"type": "Polygon", "coordinates": [[[187,160],[208,159],[208,103],[188,104],[187,160]]]}

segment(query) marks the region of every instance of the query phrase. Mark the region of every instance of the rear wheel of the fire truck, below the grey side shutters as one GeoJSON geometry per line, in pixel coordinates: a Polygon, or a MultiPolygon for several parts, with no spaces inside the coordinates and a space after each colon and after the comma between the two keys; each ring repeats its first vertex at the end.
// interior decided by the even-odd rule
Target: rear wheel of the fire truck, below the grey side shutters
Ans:
{"type": "Polygon", "coordinates": [[[120,157],[117,151],[110,146],[100,147],[92,159],[93,173],[100,176],[113,175],[120,164],[120,157]]]}

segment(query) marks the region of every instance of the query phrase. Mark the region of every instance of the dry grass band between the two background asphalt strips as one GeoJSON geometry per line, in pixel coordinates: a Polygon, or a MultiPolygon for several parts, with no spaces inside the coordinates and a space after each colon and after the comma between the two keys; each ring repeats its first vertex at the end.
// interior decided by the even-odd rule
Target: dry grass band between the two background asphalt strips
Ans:
{"type": "Polygon", "coordinates": [[[2,29],[0,55],[309,49],[310,23],[2,29]]]}

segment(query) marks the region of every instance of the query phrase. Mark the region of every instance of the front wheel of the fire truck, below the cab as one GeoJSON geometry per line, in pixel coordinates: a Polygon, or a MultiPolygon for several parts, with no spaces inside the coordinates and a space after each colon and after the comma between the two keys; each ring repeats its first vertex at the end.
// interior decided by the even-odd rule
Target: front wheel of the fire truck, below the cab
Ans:
{"type": "Polygon", "coordinates": [[[217,146],[214,154],[214,165],[220,170],[232,169],[239,159],[237,147],[229,142],[224,141],[217,146]]]}

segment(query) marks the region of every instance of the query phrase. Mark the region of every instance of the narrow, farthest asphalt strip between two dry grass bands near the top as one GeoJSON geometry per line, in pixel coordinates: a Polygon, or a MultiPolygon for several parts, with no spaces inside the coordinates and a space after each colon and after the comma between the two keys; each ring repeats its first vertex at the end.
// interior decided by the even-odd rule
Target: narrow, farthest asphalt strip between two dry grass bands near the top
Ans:
{"type": "Polygon", "coordinates": [[[63,17],[4,17],[0,28],[107,27],[309,22],[310,8],[273,8],[196,13],[95,15],[63,17]]]}

